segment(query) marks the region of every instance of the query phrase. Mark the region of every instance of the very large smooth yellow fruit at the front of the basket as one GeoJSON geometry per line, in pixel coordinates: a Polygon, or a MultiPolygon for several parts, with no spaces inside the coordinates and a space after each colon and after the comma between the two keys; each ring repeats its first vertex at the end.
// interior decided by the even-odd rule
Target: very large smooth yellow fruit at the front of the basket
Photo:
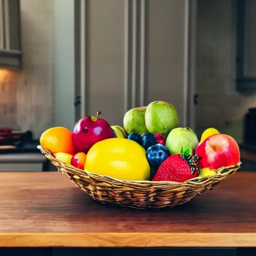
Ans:
{"type": "Polygon", "coordinates": [[[107,138],[92,145],[84,170],[123,180],[149,180],[145,149],[126,138],[107,138]]]}

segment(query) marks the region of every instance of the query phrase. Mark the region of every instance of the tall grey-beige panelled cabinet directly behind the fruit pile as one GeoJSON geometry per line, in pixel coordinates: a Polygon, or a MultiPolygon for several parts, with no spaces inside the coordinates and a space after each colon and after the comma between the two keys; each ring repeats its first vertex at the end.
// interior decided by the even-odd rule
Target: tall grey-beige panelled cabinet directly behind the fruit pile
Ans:
{"type": "Polygon", "coordinates": [[[54,0],[55,125],[96,111],[122,125],[128,109],[163,100],[193,128],[195,10],[196,0],[54,0]]]}

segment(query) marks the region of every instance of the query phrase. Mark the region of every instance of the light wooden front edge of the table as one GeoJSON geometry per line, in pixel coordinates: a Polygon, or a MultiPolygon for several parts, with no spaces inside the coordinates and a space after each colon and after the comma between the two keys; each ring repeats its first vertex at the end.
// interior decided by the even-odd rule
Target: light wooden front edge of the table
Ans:
{"type": "Polygon", "coordinates": [[[0,233],[0,247],[256,247],[256,232],[0,233]]]}

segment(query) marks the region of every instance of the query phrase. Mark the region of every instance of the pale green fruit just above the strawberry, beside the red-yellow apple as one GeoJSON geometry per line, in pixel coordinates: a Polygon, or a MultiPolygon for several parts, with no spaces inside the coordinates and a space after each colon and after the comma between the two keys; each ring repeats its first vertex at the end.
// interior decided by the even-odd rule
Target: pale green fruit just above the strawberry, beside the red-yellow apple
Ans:
{"type": "Polygon", "coordinates": [[[195,149],[198,145],[198,138],[192,129],[177,127],[170,131],[166,137],[165,146],[171,154],[180,154],[181,150],[187,148],[195,149]]]}

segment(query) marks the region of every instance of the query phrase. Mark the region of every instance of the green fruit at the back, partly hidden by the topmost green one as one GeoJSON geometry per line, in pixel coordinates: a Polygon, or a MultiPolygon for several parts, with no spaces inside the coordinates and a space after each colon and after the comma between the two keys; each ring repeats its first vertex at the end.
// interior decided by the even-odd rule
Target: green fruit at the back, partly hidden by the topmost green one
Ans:
{"type": "Polygon", "coordinates": [[[139,135],[148,133],[145,126],[145,111],[146,106],[140,106],[131,108],[124,114],[123,128],[126,130],[127,134],[132,132],[139,135]]]}

